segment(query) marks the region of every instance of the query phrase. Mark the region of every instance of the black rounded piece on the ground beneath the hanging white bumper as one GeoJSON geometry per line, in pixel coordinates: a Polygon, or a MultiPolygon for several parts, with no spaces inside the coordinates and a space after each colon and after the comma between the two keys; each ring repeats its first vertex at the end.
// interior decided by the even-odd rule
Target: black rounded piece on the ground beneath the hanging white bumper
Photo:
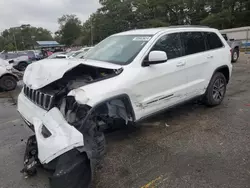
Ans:
{"type": "Polygon", "coordinates": [[[50,178],[50,187],[88,188],[91,177],[90,160],[86,153],[73,149],[59,157],[56,171],[50,178]]]}

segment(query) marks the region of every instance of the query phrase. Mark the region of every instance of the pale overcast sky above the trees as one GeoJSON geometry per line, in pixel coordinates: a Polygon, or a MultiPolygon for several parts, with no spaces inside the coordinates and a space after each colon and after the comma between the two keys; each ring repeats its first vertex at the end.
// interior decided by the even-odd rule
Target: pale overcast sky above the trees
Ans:
{"type": "Polygon", "coordinates": [[[57,31],[57,19],[75,14],[81,21],[99,7],[99,0],[0,0],[0,32],[10,27],[30,24],[57,31]]]}

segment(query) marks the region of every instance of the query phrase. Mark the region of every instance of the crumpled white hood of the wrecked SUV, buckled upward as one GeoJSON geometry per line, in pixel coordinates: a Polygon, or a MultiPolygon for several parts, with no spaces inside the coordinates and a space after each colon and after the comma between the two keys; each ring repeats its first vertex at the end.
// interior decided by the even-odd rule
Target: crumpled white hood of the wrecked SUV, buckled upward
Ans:
{"type": "Polygon", "coordinates": [[[107,62],[84,59],[44,59],[30,64],[24,73],[24,83],[32,89],[40,89],[60,78],[74,67],[84,64],[107,69],[120,69],[121,66],[107,62]]]}

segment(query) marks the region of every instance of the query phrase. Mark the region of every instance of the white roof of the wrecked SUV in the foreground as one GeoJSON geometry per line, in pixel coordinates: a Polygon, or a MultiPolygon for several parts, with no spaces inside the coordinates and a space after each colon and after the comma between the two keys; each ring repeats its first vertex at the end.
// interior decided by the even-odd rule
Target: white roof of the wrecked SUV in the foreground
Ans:
{"type": "Polygon", "coordinates": [[[130,31],[125,31],[122,33],[117,33],[115,35],[155,35],[159,32],[166,30],[202,30],[202,31],[215,31],[216,29],[209,28],[206,26],[170,26],[170,27],[158,27],[150,29],[135,29],[130,31]]]}

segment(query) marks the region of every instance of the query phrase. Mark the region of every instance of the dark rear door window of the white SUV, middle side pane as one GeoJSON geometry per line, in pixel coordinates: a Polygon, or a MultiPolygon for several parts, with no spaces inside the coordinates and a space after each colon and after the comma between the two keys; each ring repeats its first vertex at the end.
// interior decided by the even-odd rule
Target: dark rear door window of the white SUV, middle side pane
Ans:
{"type": "Polygon", "coordinates": [[[206,51],[205,38],[201,32],[181,33],[181,41],[184,46],[185,55],[206,51]]]}

